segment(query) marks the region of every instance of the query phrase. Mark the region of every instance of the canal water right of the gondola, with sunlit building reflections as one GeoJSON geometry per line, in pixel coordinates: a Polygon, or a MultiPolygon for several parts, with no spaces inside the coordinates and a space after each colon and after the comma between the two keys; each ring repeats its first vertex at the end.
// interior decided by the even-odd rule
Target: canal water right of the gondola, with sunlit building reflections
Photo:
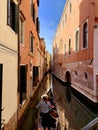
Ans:
{"type": "Polygon", "coordinates": [[[52,91],[57,105],[61,130],[81,130],[98,114],[87,108],[71,91],[52,77],[52,91]]]}

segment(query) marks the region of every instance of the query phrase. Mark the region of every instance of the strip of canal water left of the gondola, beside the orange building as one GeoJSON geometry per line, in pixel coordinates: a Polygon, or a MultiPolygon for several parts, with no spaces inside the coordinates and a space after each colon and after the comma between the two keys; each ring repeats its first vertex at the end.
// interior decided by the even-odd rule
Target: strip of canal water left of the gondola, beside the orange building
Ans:
{"type": "Polygon", "coordinates": [[[17,130],[38,130],[38,110],[36,105],[41,99],[41,96],[48,92],[51,86],[51,75],[48,74],[44,77],[41,86],[38,88],[37,93],[30,101],[30,105],[26,110],[26,114],[19,123],[17,130]]]}

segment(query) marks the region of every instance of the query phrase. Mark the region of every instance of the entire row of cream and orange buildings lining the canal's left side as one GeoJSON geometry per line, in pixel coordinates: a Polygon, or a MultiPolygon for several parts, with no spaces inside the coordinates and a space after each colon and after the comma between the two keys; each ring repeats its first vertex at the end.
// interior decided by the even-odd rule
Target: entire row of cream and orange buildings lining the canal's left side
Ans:
{"type": "Polygon", "coordinates": [[[0,130],[21,126],[47,70],[38,7],[39,0],[0,2],[0,130]]]}

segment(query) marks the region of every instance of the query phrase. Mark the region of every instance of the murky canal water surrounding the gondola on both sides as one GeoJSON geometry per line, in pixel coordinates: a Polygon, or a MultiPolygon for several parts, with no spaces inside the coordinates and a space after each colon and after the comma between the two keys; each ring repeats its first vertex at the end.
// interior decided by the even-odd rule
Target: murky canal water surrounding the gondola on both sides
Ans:
{"type": "MultiPolygon", "coordinates": [[[[21,130],[38,130],[37,113],[35,109],[41,95],[51,88],[59,115],[58,130],[81,130],[85,125],[98,117],[98,111],[90,108],[86,102],[73,93],[71,88],[64,86],[56,77],[48,74],[36,95],[35,103],[31,103],[21,130]]],[[[98,128],[97,128],[98,129],[98,128]]],[[[97,130],[90,129],[90,130],[97,130]]]]}

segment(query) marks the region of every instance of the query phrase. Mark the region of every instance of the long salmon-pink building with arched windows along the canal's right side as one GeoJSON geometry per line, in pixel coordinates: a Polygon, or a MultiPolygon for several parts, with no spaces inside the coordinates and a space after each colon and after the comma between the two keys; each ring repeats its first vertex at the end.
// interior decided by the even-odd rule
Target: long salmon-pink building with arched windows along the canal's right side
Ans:
{"type": "Polygon", "coordinates": [[[98,1],[67,0],[53,40],[53,72],[98,102],[98,1]]]}

